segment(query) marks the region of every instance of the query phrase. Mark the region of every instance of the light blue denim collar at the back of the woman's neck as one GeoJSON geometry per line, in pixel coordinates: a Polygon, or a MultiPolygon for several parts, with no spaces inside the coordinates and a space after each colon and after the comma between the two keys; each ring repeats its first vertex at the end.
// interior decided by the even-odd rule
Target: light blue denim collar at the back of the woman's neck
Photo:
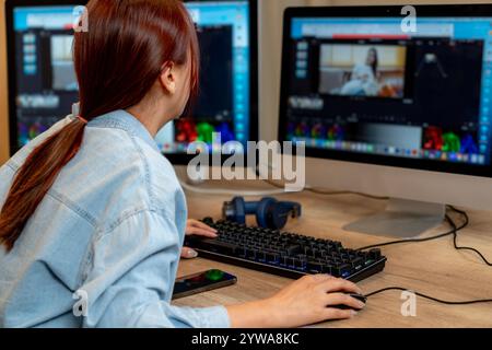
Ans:
{"type": "Polygon", "coordinates": [[[124,109],[110,112],[94,118],[87,124],[87,127],[103,127],[121,129],[145,141],[155,151],[161,153],[157,143],[150,135],[149,130],[140,122],[139,119],[124,109]]]}

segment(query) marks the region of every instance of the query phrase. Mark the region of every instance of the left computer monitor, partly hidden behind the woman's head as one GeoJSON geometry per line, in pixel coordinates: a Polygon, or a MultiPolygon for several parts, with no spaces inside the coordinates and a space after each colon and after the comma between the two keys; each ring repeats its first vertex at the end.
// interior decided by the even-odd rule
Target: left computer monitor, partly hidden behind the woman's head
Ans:
{"type": "MultiPolygon", "coordinates": [[[[71,113],[78,101],[72,63],[77,5],[86,1],[8,0],[11,153],[71,113]]],[[[192,117],[167,125],[156,137],[162,152],[186,164],[188,144],[258,138],[257,1],[186,1],[201,51],[200,95],[192,117]]]]}

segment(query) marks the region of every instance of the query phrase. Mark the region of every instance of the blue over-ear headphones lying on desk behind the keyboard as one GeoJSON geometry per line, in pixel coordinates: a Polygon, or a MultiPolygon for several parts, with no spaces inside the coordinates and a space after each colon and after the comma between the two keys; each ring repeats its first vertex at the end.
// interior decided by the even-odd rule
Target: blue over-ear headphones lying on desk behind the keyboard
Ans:
{"type": "Polygon", "coordinates": [[[301,217],[301,205],[294,201],[278,201],[267,197],[260,201],[247,202],[243,197],[234,197],[224,202],[222,214],[225,220],[246,223],[246,215],[255,214],[258,226],[280,230],[285,226],[289,217],[301,217]]]}

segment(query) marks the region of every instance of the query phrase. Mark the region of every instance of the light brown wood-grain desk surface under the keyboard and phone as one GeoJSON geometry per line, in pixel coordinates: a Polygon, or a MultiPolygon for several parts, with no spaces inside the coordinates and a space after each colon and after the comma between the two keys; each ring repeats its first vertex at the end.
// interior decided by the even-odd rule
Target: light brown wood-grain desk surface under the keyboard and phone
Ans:
{"type": "MultiPolygon", "coordinates": [[[[208,185],[208,187],[216,187],[208,185]]],[[[271,189],[268,185],[227,183],[221,184],[234,190],[271,189]]],[[[316,237],[341,241],[347,247],[356,248],[387,241],[385,237],[358,234],[341,228],[364,215],[384,210],[386,201],[354,195],[323,196],[311,192],[285,194],[279,199],[296,200],[303,205],[303,218],[292,220],[285,231],[316,237]]],[[[222,202],[231,196],[187,192],[190,218],[220,219],[222,202]]],[[[256,198],[248,198],[254,200],[256,198]]],[[[490,212],[468,211],[470,225],[460,232],[458,244],[478,248],[492,259],[492,215],[490,212]]],[[[458,218],[457,218],[458,219],[458,218]]],[[[253,219],[254,220],[254,219],[253,219]]],[[[254,224],[254,221],[250,222],[254,224]]],[[[443,224],[424,235],[445,232],[443,224]]],[[[364,293],[385,287],[403,287],[432,296],[462,301],[492,298],[492,269],[473,253],[457,252],[452,237],[426,243],[409,243],[383,248],[388,261],[383,272],[359,283],[364,293]]],[[[207,292],[176,301],[177,305],[212,306],[231,305],[267,298],[291,280],[202,258],[180,262],[178,276],[207,270],[223,269],[238,278],[238,283],[225,289],[207,292]]],[[[389,291],[372,296],[367,306],[355,318],[329,322],[319,327],[492,327],[492,304],[448,306],[424,299],[417,300],[417,316],[401,315],[401,293],[389,291]]]]}

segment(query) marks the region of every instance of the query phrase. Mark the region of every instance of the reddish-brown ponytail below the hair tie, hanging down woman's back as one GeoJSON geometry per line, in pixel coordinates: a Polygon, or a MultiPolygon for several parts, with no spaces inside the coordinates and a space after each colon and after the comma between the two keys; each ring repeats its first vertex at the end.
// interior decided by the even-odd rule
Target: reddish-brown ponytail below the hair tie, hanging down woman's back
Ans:
{"type": "Polygon", "coordinates": [[[13,248],[61,168],[79,151],[85,125],[82,118],[68,124],[36,147],[19,170],[0,212],[0,244],[8,252],[13,248]]]}

